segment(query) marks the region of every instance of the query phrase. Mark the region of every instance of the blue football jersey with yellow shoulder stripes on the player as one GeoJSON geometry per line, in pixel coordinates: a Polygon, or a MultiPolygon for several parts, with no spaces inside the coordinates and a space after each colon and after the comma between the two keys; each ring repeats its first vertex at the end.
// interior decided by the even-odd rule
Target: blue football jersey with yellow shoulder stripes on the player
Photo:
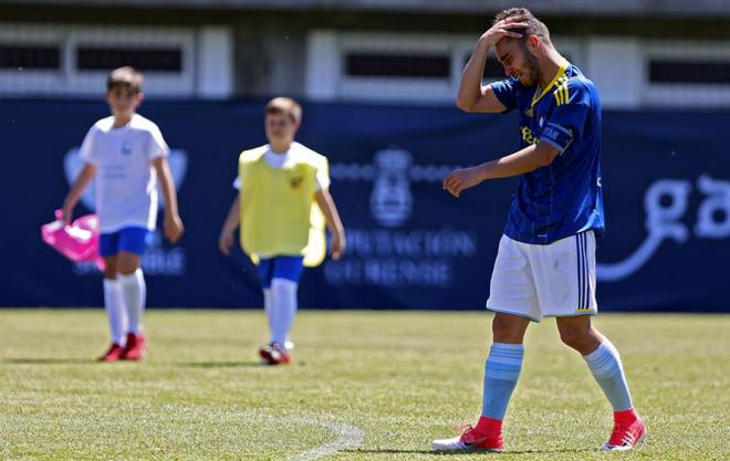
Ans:
{"type": "Polygon", "coordinates": [[[550,143],[560,155],[520,177],[504,233],[549,244],[605,224],[601,192],[601,98],[575,65],[561,69],[545,91],[517,78],[491,84],[507,111],[520,111],[521,148],[550,143]]]}

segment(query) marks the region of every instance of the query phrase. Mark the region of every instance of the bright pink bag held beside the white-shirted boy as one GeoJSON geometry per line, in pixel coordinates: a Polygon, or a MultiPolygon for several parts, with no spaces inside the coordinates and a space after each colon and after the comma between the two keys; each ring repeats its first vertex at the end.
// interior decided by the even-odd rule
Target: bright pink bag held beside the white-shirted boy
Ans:
{"type": "Polygon", "coordinates": [[[55,221],[41,226],[43,241],[74,262],[96,263],[104,271],[104,260],[98,255],[98,218],[86,214],[71,224],[63,222],[63,212],[55,210],[55,221]]]}

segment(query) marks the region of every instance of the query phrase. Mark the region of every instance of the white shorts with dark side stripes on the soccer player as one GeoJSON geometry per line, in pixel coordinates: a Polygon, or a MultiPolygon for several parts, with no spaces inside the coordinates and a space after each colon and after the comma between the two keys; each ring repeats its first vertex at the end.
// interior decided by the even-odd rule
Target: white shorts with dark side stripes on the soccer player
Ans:
{"type": "Polygon", "coordinates": [[[502,235],[487,308],[540,322],[596,314],[596,240],[581,232],[546,245],[502,235]]]}

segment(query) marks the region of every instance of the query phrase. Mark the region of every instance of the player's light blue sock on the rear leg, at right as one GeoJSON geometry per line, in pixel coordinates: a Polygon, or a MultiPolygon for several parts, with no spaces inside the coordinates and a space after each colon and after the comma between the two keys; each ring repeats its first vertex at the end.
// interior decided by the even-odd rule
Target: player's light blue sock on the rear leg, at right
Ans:
{"type": "Polygon", "coordinates": [[[608,339],[604,339],[591,354],[584,355],[583,359],[588,364],[591,373],[601,385],[614,411],[624,411],[633,407],[618,350],[608,339]]]}

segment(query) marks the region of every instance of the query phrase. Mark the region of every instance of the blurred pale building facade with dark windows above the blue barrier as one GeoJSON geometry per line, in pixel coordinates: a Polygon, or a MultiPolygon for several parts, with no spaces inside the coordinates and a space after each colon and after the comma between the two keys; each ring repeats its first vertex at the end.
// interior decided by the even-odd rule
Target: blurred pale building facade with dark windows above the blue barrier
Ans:
{"type": "MultiPolygon", "coordinates": [[[[452,104],[477,39],[508,6],[81,3],[0,6],[0,95],[96,97],[108,70],[131,64],[145,73],[153,98],[288,94],[326,102],[452,104]]],[[[730,107],[730,2],[524,3],[551,28],[557,49],[596,82],[605,107],[730,107]]],[[[500,76],[501,67],[490,60],[486,81],[500,76]]]]}

